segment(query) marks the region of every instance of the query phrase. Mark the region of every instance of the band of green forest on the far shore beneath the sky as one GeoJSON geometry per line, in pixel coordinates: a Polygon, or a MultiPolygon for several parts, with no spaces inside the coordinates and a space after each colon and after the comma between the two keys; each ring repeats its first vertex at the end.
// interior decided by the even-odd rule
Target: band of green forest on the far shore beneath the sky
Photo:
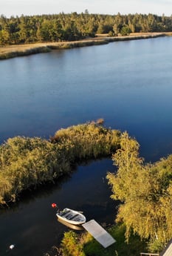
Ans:
{"type": "Polygon", "coordinates": [[[0,45],[34,42],[61,42],[94,37],[97,33],[109,36],[129,33],[172,31],[172,16],[154,14],[104,15],[59,13],[41,16],[0,16],[0,45]]]}

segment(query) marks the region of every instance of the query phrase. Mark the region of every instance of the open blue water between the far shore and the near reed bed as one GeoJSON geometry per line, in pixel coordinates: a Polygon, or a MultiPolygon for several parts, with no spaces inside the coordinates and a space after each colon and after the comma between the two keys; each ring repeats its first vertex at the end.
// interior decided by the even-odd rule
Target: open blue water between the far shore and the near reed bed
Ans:
{"type": "Polygon", "coordinates": [[[0,62],[0,142],[103,117],[142,157],[172,151],[172,38],[114,42],[0,62]]]}

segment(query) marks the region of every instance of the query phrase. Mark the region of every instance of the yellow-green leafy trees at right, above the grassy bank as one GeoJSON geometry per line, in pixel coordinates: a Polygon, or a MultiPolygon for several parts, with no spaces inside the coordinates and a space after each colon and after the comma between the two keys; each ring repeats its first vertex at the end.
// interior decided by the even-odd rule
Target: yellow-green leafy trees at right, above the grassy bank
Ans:
{"type": "Polygon", "coordinates": [[[123,202],[117,222],[125,223],[127,239],[134,232],[150,241],[151,251],[159,251],[172,237],[172,155],[146,164],[139,157],[139,146],[124,133],[112,157],[117,174],[107,178],[111,198],[123,202]]]}

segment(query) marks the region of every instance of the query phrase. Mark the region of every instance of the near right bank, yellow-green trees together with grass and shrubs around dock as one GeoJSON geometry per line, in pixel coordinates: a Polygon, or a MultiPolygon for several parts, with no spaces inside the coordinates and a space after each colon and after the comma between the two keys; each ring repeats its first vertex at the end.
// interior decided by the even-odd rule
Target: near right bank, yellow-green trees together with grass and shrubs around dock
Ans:
{"type": "Polygon", "coordinates": [[[142,250],[159,253],[171,240],[172,155],[154,164],[144,163],[139,148],[137,140],[126,132],[121,134],[120,148],[112,155],[117,173],[107,174],[111,198],[121,202],[117,225],[109,229],[117,243],[103,249],[87,233],[66,232],[59,255],[136,256],[142,250]]]}

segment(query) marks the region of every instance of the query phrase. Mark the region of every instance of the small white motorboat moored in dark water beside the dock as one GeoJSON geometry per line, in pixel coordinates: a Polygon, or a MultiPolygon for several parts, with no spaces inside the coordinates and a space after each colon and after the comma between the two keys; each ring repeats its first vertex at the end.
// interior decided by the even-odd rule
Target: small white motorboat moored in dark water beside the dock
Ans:
{"type": "Polygon", "coordinates": [[[63,211],[57,211],[56,216],[59,220],[66,221],[72,225],[81,225],[86,223],[86,217],[80,212],[69,208],[63,209],[63,211]]]}

